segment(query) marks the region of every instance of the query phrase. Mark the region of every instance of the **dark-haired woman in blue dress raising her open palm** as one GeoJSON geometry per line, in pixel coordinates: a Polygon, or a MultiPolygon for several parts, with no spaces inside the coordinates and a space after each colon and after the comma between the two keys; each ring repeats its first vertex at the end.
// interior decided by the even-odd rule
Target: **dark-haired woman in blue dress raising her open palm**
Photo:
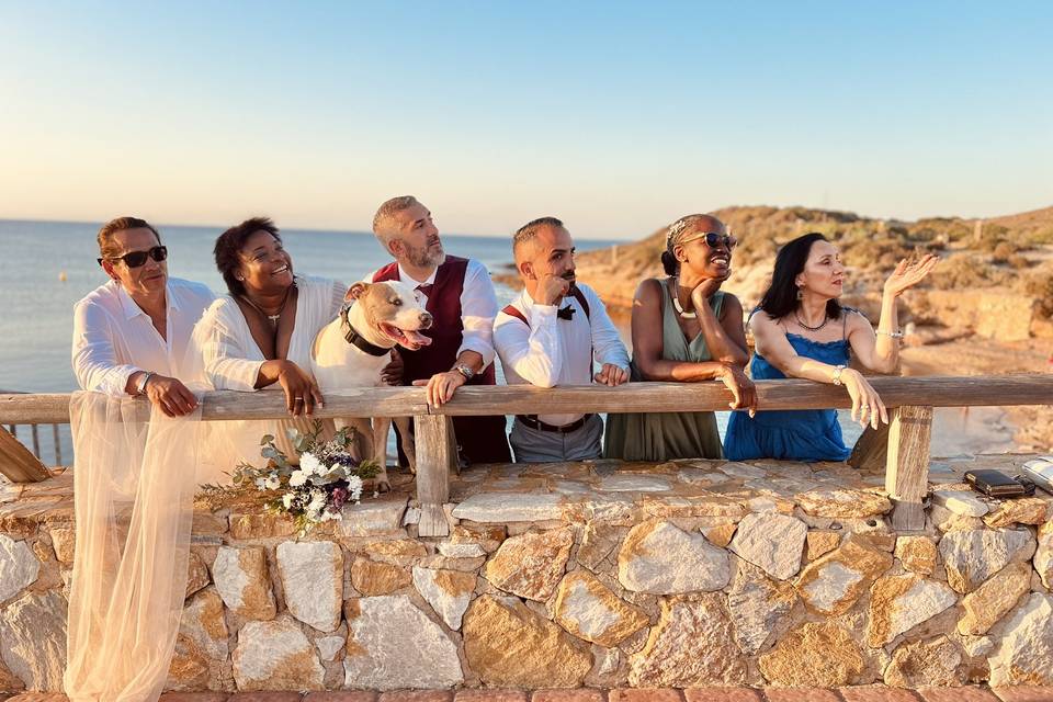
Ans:
{"type": "MultiPolygon", "coordinates": [[[[771,286],[749,320],[756,342],[754,380],[802,377],[841,385],[852,398],[853,421],[874,429],[887,423],[878,393],[848,367],[850,353],[871,371],[896,371],[903,337],[896,298],[925,279],[937,261],[929,254],[899,262],[885,281],[875,333],[859,310],[838,303],[845,267],[837,247],[817,233],[790,241],[775,257],[771,286]]],[[[756,417],[733,412],[724,440],[724,454],[733,461],[843,461],[850,453],[835,409],[758,411],[756,417]]]]}

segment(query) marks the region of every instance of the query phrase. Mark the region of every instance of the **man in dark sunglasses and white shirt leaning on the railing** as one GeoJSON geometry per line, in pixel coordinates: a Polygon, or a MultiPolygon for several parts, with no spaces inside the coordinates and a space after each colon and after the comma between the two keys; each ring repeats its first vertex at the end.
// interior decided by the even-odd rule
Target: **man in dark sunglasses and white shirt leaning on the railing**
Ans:
{"type": "Polygon", "coordinates": [[[99,230],[99,265],[110,281],[73,308],[73,373],[80,387],[145,395],[169,417],[197,400],[176,376],[194,324],[214,299],[200,283],[168,276],[168,249],[144,219],[117,217],[99,230]]]}

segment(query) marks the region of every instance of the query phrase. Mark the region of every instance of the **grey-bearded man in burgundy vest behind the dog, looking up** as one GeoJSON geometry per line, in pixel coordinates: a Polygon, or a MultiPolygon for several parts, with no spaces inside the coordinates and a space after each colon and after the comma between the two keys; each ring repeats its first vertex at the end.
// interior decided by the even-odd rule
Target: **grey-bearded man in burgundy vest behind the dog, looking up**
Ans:
{"type": "MultiPolygon", "coordinates": [[[[486,267],[446,256],[431,212],[412,195],[382,204],[373,217],[373,233],[395,261],[366,280],[408,283],[434,320],[423,332],[431,338],[430,346],[401,351],[401,384],[426,386],[432,406],[449,401],[462,385],[495,385],[497,296],[486,267]]],[[[455,417],[453,426],[464,462],[511,461],[505,417],[455,417]]]]}

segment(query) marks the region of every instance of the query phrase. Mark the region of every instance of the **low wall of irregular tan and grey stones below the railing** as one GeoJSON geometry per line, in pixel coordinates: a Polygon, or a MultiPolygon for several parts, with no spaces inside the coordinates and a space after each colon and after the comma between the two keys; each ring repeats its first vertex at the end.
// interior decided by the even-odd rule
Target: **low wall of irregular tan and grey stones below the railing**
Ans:
{"type": "MultiPolygon", "coordinates": [[[[1007,461],[912,534],[840,464],[475,469],[446,539],[398,487],[301,541],[202,505],[168,688],[1053,684],[1050,498],[961,484],[1007,461]]],[[[0,505],[0,690],[61,686],[68,478],[0,505]]]]}

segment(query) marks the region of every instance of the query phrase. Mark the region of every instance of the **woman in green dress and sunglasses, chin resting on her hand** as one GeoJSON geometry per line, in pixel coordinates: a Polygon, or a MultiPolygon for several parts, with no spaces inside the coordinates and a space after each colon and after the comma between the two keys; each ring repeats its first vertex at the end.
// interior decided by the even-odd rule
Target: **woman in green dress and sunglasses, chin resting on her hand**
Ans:
{"type": "MultiPolygon", "coordinates": [[[[633,299],[633,381],[720,381],[733,409],[756,408],[743,306],[721,285],[731,275],[736,240],[716,217],[688,215],[666,235],[667,278],[648,279],[633,299]]],[[[611,414],[604,455],[626,461],[720,458],[713,412],[611,414]]]]}

